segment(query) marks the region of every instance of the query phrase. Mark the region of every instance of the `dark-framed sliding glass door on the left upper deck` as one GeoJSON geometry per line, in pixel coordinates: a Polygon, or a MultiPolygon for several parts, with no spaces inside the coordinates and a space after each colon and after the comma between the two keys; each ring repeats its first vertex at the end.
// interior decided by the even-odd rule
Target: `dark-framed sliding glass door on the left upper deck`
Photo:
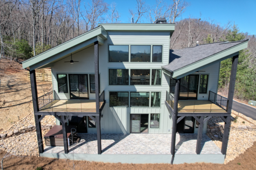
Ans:
{"type": "Polygon", "coordinates": [[[89,99],[88,74],[69,74],[70,99],[89,99]]]}

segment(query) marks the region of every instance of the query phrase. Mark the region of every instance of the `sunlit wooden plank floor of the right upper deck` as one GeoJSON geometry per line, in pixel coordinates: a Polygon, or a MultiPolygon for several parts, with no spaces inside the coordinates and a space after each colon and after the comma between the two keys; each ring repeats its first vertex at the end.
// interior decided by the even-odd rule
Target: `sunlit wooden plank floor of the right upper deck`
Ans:
{"type": "Polygon", "coordinates": [[[208,100],[179,100],[178,113],[227,113],[208,100]]]}

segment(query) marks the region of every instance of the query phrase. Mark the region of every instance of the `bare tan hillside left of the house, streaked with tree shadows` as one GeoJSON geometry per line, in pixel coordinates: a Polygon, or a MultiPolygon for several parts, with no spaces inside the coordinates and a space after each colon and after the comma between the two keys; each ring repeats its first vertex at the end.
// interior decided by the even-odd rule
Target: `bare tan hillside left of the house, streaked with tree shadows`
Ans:
{"type": "MultiPolygon", "coordinates": [[[[22,65],[10,62],[9,59],[0,60],[0,131],[6,129],[22,119],[32,111],[32,96],[30,80],[22,65]]],[[[37,81],[38,96],[51,88],[52,82],[37,81]]]]}

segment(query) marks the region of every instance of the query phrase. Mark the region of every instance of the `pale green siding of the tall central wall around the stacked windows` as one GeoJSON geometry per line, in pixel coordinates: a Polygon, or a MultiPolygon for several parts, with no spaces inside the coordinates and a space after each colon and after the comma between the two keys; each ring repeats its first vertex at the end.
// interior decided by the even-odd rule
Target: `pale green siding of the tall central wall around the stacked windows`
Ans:
{"type": "MultiPolygon", "coordinates": [[[[169,32],[108,32],[108,39],[99,47],[99,72],[101,73],[101,87],[105,89],[106,105],[102,111],[102,133],[130,133],[130,113],[160,113],[160,128],[150,128],[149,133],[171,133],[169,129],[172,121],[169,112],[164,105],[166,91],[169,91],[168,77],[162,73],[161,86],[149,85],[108,85],[109,68],[126,69],[161,69],[161,66],[169,64],[169,32]],[[163,62],[108,62],[108,45],[163,45],[163,62]],[[139,107],[113,107],[110,108],[109,91],[138,91],[161,92],[160,108],[139,107]]],[[[130,48],[131,50],[131,48],[130,48]]],[[[152,51],[152,49],[151,49],[152,51]]],[[[150,126],[150,125],[149,125],[150,126]]]]}

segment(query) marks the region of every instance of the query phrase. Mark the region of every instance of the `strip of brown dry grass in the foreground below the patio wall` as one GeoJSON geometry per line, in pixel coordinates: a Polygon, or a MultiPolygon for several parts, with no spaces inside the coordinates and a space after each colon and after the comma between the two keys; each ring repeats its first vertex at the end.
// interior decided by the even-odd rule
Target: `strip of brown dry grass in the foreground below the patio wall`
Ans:
{"type": "MultiPolygon", "coordinates": [[[[74,163],[75,170],[255,170],[255,144],[227,164],[113,164],[90,161],[74,161],[74,163]]],[[[4,152],[0,151],[0,159],[3,158],[3,155],[4,152]]],[[[73,170],[73,161],[35,156],[9,156],[3,161],[4,170],[35,170],[37,167],[42,167],[43,170],[73,170]]]]}

